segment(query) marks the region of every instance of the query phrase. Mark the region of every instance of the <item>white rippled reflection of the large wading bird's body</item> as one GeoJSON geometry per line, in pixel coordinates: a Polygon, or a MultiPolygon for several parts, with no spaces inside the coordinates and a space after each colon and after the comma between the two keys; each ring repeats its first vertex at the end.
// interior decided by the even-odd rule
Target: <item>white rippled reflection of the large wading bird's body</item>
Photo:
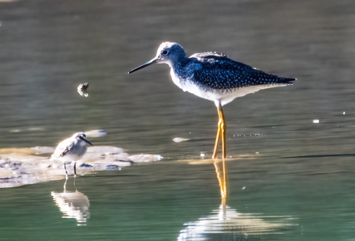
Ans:
{"type": "Polygon", "coordinates": [[[210,215],[185,223],[178,240],[268,240],[267,235],[282,234],[292,225],[292,219],[291,216],[241,213],[222,203],[210,215]]]}

